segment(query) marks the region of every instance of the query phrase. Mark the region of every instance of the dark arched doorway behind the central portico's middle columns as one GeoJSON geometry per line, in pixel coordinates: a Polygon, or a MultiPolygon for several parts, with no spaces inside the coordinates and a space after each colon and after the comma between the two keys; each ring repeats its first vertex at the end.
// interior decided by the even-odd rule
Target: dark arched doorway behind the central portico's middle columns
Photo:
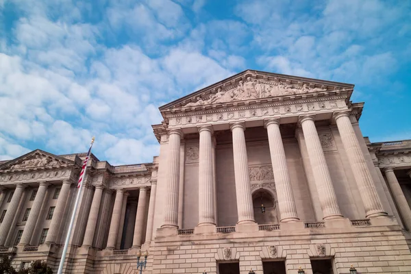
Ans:
{"type": "Polygon", "coordinates": [[[278,223],[276,204],[275,197],[269,190],[259,188],[253,192],[254,219],[259,225],[278,223]],[[262,212],[262,206],[265,212],[262,212]]]}

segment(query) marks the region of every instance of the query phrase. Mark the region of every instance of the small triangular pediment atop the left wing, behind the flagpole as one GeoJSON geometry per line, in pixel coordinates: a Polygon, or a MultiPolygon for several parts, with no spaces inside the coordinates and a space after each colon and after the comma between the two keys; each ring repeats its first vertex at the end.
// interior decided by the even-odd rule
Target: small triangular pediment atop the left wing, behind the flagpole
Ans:
{"type": "Polygon", "coordinates": [[[75,162],[71,160],[36,149],[19,158],[1,164],[0,170],[45,169],[73,164],[75,164],[75,162]]]}

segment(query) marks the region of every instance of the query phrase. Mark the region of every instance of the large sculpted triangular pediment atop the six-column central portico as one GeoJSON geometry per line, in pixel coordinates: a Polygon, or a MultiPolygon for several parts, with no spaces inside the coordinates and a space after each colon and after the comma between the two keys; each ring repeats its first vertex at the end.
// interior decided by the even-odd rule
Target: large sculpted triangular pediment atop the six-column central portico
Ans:
{"type": "Polygon", "coordinates": [[[353,84],[247,70],[163,105],[160,111],[224,105],[236,101],[310,96],[321,92],[353,90],[353,87],[353,84]]]}

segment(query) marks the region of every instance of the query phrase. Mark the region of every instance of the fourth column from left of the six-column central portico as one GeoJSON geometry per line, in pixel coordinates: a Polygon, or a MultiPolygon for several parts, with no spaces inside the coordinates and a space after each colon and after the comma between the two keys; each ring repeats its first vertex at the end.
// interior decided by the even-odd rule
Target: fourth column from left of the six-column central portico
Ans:
{"type": "Polygon", "coordinates": [[[288,175],[286,153],[279,132],[279,119],[271,119],[264,123],[269,134],[269,146],[271,154],[271,164],[277,190],[278,208],[282,222],[298,221],[297,209],[295,208],[294,196],[288,175]]]}

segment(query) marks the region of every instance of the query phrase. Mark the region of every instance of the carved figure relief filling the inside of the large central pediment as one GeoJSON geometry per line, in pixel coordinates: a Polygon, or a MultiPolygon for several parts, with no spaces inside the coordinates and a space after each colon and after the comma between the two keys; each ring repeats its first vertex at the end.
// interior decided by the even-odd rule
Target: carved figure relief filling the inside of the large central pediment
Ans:
{"type": "Polygon", "coordinates": [[[222,90],[219,88],[215,94],[208,98],[197,97],[186,103],[186,107],[212,103],[227,103],[239,100],[260,99],[266,97],[277,97],[283,95],[300,95],[310,92],[325,91],[326,88],[312,88],[308,84],[291,84],[288,82],[267,82],[260,79],[247,77],[236,86],[222,90]]]}

